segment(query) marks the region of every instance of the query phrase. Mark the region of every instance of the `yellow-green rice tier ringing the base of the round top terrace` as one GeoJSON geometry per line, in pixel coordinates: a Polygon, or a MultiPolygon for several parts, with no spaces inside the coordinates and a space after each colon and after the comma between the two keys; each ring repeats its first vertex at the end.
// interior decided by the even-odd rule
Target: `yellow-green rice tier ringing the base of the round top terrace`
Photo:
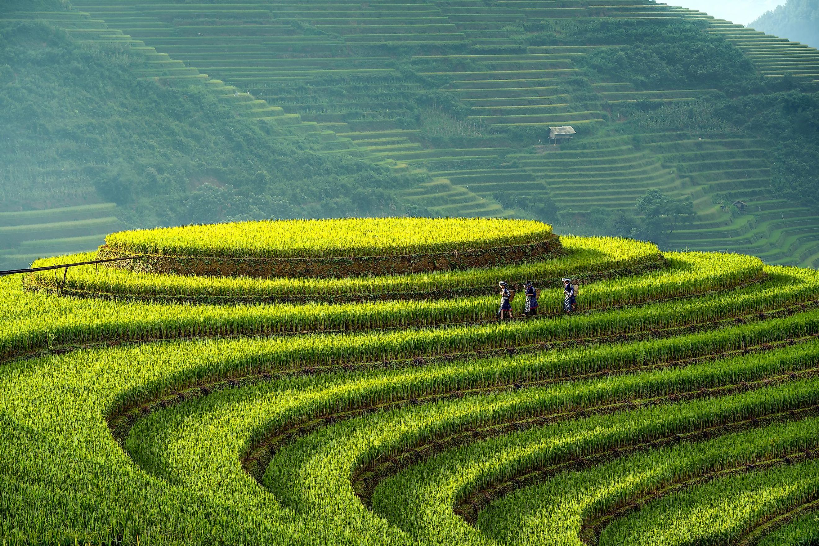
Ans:
{"type": "MultiPolygon", "coordinates": [[[[180,277],[164,273],[136,273],[121,268],[81,266],[72,268],[62,279],[49,273],[34,273],[29,288],[75,293],[78,296],[132,297],[150,300],[191,300],[233,302],[251,300],[343,301],[353,299],[428,299],[455,295],[488,295],[497,291],[497,279],[515,286],[527,280],[539,286],[557,286],[563,275],[575,278],[613,277],[629,271],[663,268],[666,261],[657,247],[645,242],[611,237],[561,237],[567,255],[560,259],[509,264],[495,268],[410,273],[399,276],[310,278],[225,278],[180,277]]],[[[66,257],[67,261],[87,261],[94,254],[66,257]]],[[[51,264],[50,259],[34,262],[34,267],[51,264]]]]}

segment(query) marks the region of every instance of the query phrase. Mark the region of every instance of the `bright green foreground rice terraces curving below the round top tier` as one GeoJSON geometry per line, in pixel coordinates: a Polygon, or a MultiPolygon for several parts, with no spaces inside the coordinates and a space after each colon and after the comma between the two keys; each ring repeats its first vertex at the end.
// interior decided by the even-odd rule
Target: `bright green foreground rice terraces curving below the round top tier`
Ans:
{"type": "Polygon", "coordinates": [[[415,275],[3,279],[4,544],[819,539],[819,273],[561,242],[415,275]],[[501,278],[541,313],[518,291],[495,320],[501,278]]]}

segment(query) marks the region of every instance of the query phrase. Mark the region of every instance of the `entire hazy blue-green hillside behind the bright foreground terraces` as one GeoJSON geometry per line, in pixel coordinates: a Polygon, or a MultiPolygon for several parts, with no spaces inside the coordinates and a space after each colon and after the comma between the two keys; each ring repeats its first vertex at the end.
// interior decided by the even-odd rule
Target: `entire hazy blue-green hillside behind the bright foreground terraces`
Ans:
{"type": "Polygon", "coordinates": [[[48,131],[5,141],[17,208],[525,217],[819,264],[800,43],[648,0],[29,5],[7,5],[8,39],[48,40],[9,48],[3,96],[48,131]]]}

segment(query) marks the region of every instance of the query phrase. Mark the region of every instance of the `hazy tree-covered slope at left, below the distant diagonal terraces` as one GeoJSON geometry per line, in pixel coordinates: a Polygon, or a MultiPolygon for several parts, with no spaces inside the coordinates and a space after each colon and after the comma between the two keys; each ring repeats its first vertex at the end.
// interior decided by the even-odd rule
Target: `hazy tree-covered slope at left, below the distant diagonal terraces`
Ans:
{"type": "Polygon", "coordinates": [[[40,23],[3,25],[0,44],[6,209],[115,201],[135,226],[402,210],[408,175],[276,140],[201,85],[138,79],[136,52],[40,23]]]}

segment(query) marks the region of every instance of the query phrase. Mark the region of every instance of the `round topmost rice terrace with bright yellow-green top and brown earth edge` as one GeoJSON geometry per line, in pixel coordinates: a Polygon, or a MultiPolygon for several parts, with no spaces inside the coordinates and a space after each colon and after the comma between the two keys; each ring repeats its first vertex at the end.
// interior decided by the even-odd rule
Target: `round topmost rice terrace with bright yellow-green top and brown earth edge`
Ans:
{"type": "Polygon", "coordinates": [[[423,273],[563,255],[550,225],[523,219],[268,220],[119,232],[106,242],[100,258],[126,258],[114,267],[229,277],[423,273]]]}

